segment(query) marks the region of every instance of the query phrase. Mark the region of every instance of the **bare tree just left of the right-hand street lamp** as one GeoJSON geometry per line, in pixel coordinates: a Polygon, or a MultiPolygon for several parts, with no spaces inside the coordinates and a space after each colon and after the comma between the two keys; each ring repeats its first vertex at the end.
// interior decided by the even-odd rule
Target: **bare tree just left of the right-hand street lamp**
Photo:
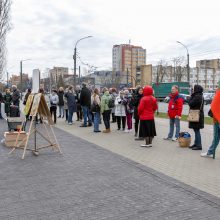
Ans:
{"type": "Polygon", "coordinates": [[[174,80],[177,82],[181,82],[182,77],[186,73],[185,57],[174,57],[172,61],[174,65],[174,80]]]}

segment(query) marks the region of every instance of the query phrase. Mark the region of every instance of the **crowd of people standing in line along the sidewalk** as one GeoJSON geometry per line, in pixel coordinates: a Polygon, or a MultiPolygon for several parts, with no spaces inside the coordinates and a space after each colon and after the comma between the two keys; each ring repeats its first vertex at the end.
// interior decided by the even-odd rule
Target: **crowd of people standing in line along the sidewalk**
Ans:
{"type": "MultiPolygon", "coordinates": [[[[43,90],[41,89],[39,92],[43,93],[43,90]]],[[[30,94],[29,89],[24,97],[24,105],[30,94]]],[[[7,89],[4,96],[0,93],[0,102],[5,103],[7,116],[11,105],[19,107],[20,93],[17,87],[13,86],[12,91],[7,89]]],[[[193,129],[195,134],[194,143],[189,148],[202,150],[200,130],[204,128],[204,99],[203,88],[200,85],[194,86],[188,104],[190,110],[199,112],[199,120],[189,122],[189,128],[193,129]]],[[[75,90],[73,86],[65,89],[60,87],[58,90],[53,89],[49,95],[49,107],[54,123],[57,122],[58,117],[64,118],[69,125],[72,125],[74,123],[73,115],[76,114],[76,120],[82,122],[80,127],[93,126],[95,133],[101,132],[99,125],[102,121],[105,126],[103,133],[111,132],[111,123],[117,123],[118,131],[130,133],[133,131],[134,121],[135,140],[143,140],[145,143],[141,144],[142,147],[152,147],[152,141],[157,135],[154,115],[158,105],[151,86],[144,88],[138,86],[136,89],[123,89],[119,92],[115,88],[103,88],[102,91],[99,91],[98,88],[91,90],[86,83],[82,83],[82,88],[77,86],[75,90]]],[[[169,132],[164,140],[178,140],[181,131],[182,109],[183,98],[179,94],[178,86],[174,85],[171,88],[168,104],[169,132]]],[[[216,120],[215,115],[212,114],[212,117],[213,143],[207,152],[201,154],[203,157],[211,157],[220,140],[220,123],[216,120]]]]}

